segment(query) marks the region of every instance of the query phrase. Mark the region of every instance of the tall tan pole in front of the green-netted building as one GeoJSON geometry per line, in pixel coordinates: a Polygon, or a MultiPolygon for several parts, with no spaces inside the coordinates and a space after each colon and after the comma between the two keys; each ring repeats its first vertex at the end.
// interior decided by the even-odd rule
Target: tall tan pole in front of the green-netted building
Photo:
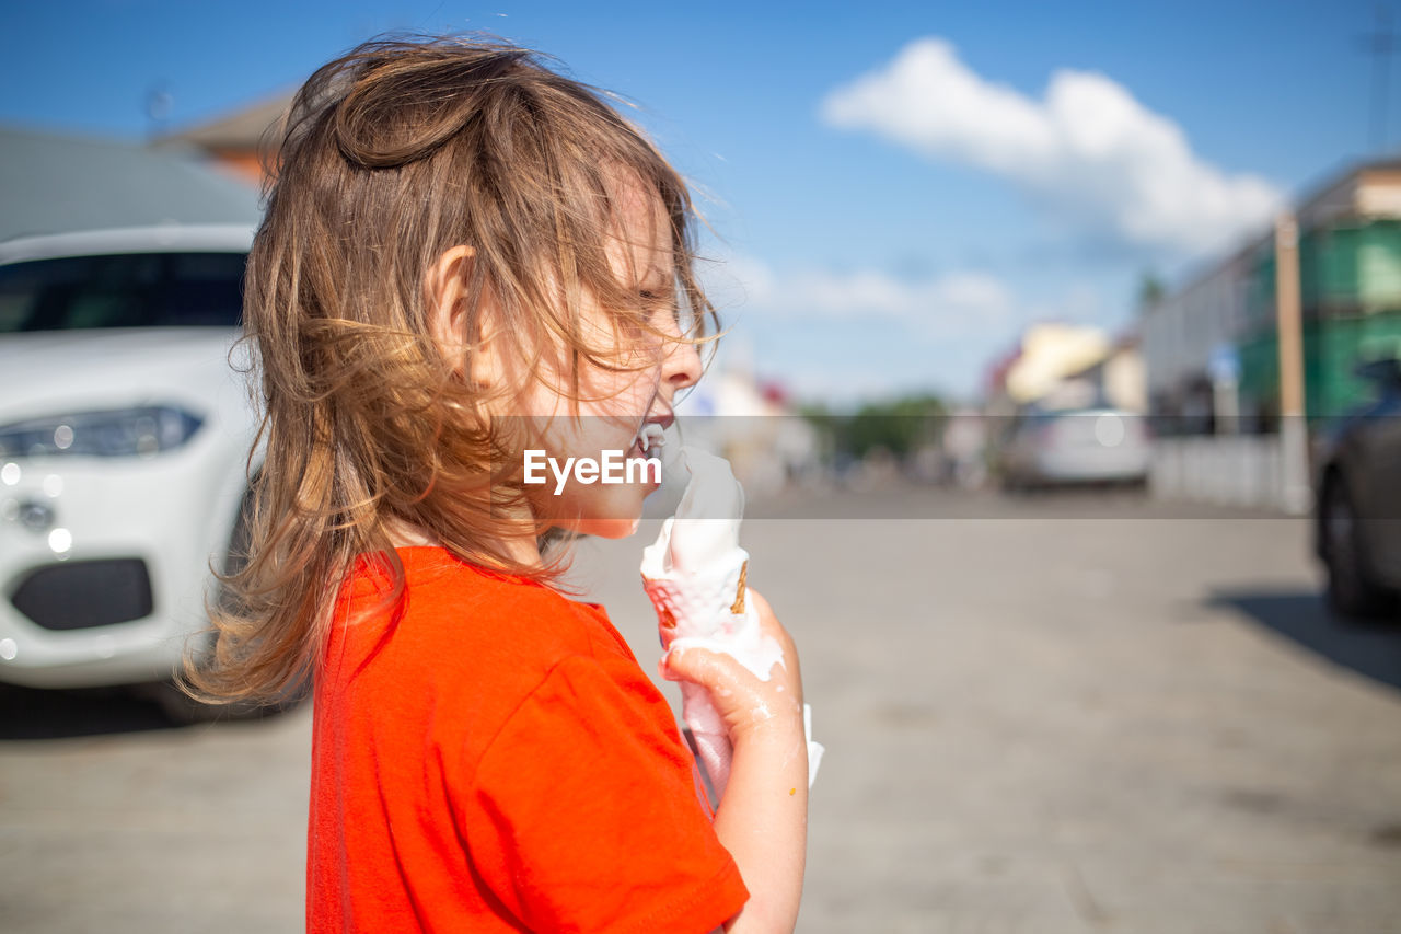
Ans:
{"type": "Polygon", "coordinates": [[[1279,344],[1279,454],[1283,506],[1309,512],[1309,425],[1304,419],[1304,334],[1299,297],[1299,224],[1288,210],[1275,219],[1275,328],[1279,344]]]}

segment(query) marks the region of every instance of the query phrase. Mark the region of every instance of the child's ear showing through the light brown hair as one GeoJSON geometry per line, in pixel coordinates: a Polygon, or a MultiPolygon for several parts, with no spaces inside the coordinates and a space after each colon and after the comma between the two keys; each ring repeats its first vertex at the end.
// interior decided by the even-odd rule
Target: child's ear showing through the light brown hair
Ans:
{"type": "Polygon", "coordinates": [[[472,386],[495,388],[504,363],[500,341],[492,341],[497,318],[495,297],[485,289],[476,314],[467,307],[475,258],[476,250],[465,244],[443,251],[423,276],[423,304],[429,337],[443,359],[472,386]]]}

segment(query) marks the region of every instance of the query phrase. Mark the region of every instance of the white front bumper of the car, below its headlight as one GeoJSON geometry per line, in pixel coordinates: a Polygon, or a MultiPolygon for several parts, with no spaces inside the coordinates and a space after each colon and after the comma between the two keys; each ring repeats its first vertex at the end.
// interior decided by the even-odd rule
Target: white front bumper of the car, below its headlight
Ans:
{"type": "Polygon", "coordinates": [[[223,567],[245,487],[240,446],[20,459],[0,480],[0,682],[170,677],[207,627],[210,568],[223,567]]]}

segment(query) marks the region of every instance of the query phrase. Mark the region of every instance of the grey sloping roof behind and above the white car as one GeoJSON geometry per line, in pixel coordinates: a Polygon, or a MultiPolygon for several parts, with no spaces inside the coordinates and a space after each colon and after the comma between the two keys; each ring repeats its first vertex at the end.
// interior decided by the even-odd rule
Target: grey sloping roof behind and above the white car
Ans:
{"type": "Polygon", "coordinates": [[[0,126],[0,240],[150,224],[256,224],[256,188],[200,153],[0,126]]]}

